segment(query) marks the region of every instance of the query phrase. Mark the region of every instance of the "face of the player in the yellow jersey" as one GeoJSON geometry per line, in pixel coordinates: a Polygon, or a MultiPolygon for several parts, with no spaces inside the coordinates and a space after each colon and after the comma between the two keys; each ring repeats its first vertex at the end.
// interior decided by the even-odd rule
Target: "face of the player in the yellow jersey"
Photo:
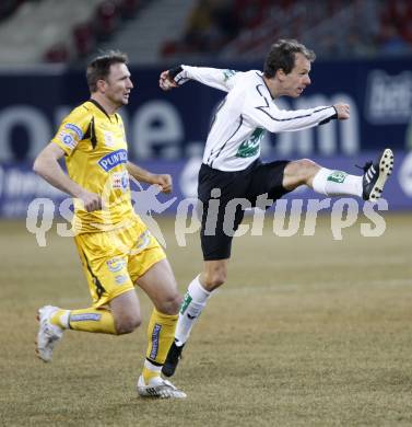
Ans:
{"type": "Polygon", "coordinates": [[[126,64],[113,64],[106,80],[105,96],[107,100],[117,107],[127,105],[132,89],[133,83],[126,64]]]}

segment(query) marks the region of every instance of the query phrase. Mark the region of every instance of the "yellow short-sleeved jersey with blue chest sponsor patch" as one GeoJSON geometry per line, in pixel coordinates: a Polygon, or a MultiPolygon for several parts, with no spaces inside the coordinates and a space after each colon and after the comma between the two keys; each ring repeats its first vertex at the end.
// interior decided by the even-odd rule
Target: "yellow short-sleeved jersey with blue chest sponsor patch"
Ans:
{"type": "Polygon", "coordinates": [[[103,198],[103,209],[92,212],[74,199],[75,233],[111,230],[136,218],[125,126],[119,114],[108,115],[96,101],[89,100],[63,119],[51,141],[64,151],[70,178],[103,198]]]}

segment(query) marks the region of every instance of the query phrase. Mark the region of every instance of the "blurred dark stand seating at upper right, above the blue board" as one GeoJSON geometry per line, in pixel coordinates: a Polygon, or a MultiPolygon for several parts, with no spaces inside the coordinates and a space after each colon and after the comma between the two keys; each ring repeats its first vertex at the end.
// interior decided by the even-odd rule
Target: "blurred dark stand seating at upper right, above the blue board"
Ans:
{"type": "Polygon", "coordinates": [[[411,54],[412,2],[199,0],[184,36],[166,42],[163,55],[260,53],[260,43],[279,37],[310,41],[323,58],[411,54]]]}

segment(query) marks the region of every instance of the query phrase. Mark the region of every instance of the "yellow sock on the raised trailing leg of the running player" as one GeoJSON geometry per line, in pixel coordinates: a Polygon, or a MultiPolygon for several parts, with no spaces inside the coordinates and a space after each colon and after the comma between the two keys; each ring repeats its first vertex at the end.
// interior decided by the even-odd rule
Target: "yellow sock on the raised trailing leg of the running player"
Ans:
{"type": "Polygon", "coordinates": [[[59,310],[51,323],[62,328],[117,335],[115,319],[106,309],[59,310]]]}

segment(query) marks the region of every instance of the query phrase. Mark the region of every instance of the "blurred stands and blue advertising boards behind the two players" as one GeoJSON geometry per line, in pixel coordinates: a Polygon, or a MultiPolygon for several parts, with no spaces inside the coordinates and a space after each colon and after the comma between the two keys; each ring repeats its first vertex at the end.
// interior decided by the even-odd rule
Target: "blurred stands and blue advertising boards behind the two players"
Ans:
{"type": "Polygon", "coordinates": [[[199,155],[223,94],[193,83],[163,93],[160,71],[185,62],[261,69],[279,37],[296,37],[318,55],[305,96],[279,104],[298,108],[342,100],[352,117],[268,135],[263,157],[325,158],[353,170],[364,154],[388,146],[397,151],[396,175],[386,192],[389,205],[412,206],[410,1],[8,0],[1,2],[0,16],[3,217],[24,217],[33,197],[59,196],[30,165],[62,116],[87,97],[84,66],[101,49],[119,48],[130,56],[136,89],[122,111],[130,157],[149,168],[169,169],[180,199],[196,192],[199,155]]]}

